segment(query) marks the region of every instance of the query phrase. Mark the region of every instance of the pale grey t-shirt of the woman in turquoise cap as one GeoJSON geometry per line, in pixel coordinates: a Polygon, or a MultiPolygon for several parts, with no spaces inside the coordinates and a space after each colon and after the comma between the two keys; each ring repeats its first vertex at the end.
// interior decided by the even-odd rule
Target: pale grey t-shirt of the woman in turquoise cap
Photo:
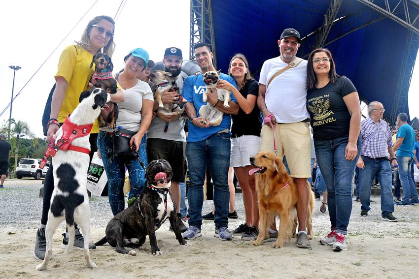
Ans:
{"type": "Polygon", "coordinates": [[[116,127],[136,132],[140,129],[142,100],[153,101],[153,93],[148,83],[140,80],[132,88],[121,88],[121,91],[125,100],[118,103],[119,115],[116,127]]]}

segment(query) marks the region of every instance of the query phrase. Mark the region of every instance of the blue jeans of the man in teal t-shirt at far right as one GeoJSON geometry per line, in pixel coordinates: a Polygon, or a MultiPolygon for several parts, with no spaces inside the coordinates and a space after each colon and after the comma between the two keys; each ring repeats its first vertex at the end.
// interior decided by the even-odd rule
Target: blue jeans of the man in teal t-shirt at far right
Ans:
{"type": "Polygon", "coordinates": [[[410,204],[412,201],[418,200],[418,191],[416,190],[415,182],[410,174],[412,162],[412,157],[397,156],[397,163],[399,164],[399,177],[403,188],[402,203],[406,204],[410,204]]]}

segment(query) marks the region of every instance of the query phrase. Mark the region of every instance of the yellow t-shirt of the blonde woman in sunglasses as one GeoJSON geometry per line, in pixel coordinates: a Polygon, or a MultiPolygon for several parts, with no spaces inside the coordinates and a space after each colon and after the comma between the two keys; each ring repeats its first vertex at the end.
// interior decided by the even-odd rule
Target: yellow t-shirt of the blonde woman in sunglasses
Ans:
{"type": "MultiPolygon", "coordinates": [[[[61,76],[69,85],[58,113],[58,122],[63,123],[66,120],[67,116],[77,107],[80,93],[88,89],[88,83],[95,71],[95,67],[90,67],[92,59],[91,53],[77,45],[75,47],[70,45],[62,52],[55,79],[61,76]]],[[[99,122],[96,120],[92,133],[98,132],[99,122]]]]}

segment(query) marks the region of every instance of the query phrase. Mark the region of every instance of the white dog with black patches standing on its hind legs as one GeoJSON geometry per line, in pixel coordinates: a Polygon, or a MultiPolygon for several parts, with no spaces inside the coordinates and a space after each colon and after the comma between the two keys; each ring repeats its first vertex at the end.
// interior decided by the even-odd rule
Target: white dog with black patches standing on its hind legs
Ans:
{"type": "Polygon", "coordinates": [[[105,90],[95,88],[80,94],[80,103],[55,134],[57,154],[52,157],[54,166],[54,191],[45,228],[46,252],[44,260],[36,266],[44,270],[52,255],[52,236],[58,225],[66,220],[69,244],[74,244],[74,221],[80,226],[84,237],[84,258],[89,268],[96,264],[90,259],[90,207],[86,190],[89,167],[89,135],[101,108],[110,100],[105,90]],[[90,127],[90,128],[89,128],[90,127]],[[69,143],[70,142],[70,143],[69,143]]]}

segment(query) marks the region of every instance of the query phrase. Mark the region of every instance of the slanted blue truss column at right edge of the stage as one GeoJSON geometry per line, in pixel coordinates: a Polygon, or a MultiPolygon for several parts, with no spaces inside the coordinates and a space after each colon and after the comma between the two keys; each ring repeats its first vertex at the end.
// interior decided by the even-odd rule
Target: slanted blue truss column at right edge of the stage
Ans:
{"type": "Polygon", "coordinates": [[[408,112],[408,93],[416,56],[418,54],[418,46],[419,36],[414,32],[408,32],[402,58],[402,67],[397,83],[397,92],[394,95],[393,107],[391,108],[391,124],[394,124],[399,113],[408,112]]]}

